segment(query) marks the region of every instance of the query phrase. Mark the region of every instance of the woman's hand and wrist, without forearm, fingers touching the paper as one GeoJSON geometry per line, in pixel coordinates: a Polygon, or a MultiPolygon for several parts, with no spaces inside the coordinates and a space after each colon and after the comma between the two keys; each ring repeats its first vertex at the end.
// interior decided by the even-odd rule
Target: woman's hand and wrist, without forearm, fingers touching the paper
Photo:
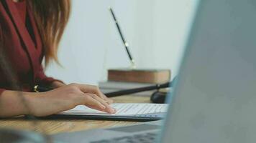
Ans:
{"type": "Polygon", "coordinates": [[[57,114],[73,109],[77,105],[85,105],[110,114],[116,112],[109,106],[112,100],[107,98],[98,87],[85,84],[68,84],[49,92],[33,93],[26,99],[30,114],[37,117],[57,114]]]}

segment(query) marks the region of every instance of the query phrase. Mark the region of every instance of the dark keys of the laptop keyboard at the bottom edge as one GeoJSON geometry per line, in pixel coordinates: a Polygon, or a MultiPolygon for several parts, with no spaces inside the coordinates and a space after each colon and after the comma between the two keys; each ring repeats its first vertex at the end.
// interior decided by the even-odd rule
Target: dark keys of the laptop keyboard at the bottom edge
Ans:
{"type": "Polygon", "coordinates": [[[155,142],[155,139],[157,137],[156,133],[142,133],[142,134],[134,134],[132,136],[126,136],[126,137],[118,137],[113,139],[104,139],[99,140],[91,143],[150,143],[155,142]]]}

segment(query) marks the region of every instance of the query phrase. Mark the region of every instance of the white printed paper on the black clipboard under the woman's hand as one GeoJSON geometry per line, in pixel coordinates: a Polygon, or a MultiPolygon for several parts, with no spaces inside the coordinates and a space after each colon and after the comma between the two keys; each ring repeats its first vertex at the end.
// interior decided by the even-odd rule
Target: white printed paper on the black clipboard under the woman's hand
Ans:
{"type": "Polygon", "coordinates": [[[147,114],[161,114],[167,112],[168,104],[141,104],[141,103],[114,103],[111,107],[116,109],[115,114],[100,112],[95,109],[79,105],[60,114],[73,115],[100,115],[100,116],[140,116],[147,114]]]}

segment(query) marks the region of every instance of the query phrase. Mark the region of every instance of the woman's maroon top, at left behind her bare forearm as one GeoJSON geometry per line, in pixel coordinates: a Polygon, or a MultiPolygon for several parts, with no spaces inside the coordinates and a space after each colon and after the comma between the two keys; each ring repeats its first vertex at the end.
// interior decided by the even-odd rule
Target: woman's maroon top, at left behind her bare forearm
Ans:
{"type": "MultiPolygon", "coordinates": [[[[42,68],[42,41],[32,10],[26,1],[15,3],[12,0],[0,1],[0,35],[4,56],[14,69],[15,77],[22,90],[32,92],[35,84],[49,85],[55,79],[46,77],[42,68]]],[[[12,90],[3,65],[0,65],[0,94],[12,90]]]]}

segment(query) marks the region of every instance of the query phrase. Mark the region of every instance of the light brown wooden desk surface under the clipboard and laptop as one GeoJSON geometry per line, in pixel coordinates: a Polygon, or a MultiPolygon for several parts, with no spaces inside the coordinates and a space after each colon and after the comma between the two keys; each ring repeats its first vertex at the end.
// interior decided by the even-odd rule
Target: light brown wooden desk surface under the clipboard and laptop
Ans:
{"type": "MultiPolygon", "coordinates": [[[[114,97],[114,102],[118,103],[150,103],[150,97],[123,96],[114,97]]],[[[26,129],[46,134],[56,134],[60,132],[75,132],[86,129],[117,127],[136,122],[116,122],[116,121],[96,121],[96,120],[39,120],[33,124],[26,119],[1,119],[0,128],[26,129]]]]}

